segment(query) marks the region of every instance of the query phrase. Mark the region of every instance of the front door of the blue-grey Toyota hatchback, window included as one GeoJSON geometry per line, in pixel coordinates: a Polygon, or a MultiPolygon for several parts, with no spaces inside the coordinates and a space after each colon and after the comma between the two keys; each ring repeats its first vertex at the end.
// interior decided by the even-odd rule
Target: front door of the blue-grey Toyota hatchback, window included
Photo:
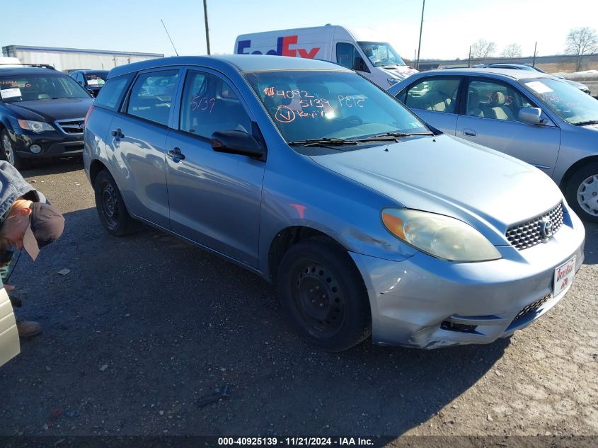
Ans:
{"type": "Polygon", "coordinates": [[[189,70],[179,116],[166,141],[171,229],[257,268],[265,162],[210,143],[216,131],[252,132],[246,106],[219,74],[189,70]]]}

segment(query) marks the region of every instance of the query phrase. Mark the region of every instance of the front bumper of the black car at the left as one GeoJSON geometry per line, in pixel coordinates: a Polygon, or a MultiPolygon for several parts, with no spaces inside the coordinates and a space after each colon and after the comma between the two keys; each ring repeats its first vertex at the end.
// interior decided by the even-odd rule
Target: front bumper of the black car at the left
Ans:
{"type": "Polygon", "coordinates": [[[83,134],[64,134],[62,132],[9,132],[13,150],[21,159],[43,159],[48,157],[76,156],[83,152],[83,134]],[[38,144],[42,151],[34,154],[32,144],[38,144]]]}

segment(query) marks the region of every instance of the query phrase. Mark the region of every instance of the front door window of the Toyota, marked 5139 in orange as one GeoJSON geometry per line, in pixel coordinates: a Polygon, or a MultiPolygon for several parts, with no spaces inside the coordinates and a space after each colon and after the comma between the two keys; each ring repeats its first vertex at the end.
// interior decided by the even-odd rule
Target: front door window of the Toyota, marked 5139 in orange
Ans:
{"type": "Polygon", "coordinates": [[[251,132],[251,118],[229,84],[212,74],[189,71],[179,129],[209,139],[217,131],[251,132]]]}

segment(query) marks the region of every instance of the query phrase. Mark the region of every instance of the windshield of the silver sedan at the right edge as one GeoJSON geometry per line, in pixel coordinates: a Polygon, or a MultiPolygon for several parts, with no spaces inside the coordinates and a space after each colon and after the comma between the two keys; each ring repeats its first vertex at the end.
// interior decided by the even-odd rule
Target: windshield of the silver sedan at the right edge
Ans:
{"type": "Polygon", "coordinates": [[[560,79],[522,79],[519,82],[572,125],[598,121],[598,101],[560,79]]]}

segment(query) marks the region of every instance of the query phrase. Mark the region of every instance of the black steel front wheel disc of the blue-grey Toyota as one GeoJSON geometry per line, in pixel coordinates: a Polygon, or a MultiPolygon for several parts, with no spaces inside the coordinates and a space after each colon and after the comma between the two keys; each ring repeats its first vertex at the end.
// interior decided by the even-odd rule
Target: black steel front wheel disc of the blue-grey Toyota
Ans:
{"type": "Polygon", "coordinates": [[[292,269],[292,301],[301,328],[326,339],[345,322],[345,294],[335,275],[314,260],[299,260],[292,269]]]}

